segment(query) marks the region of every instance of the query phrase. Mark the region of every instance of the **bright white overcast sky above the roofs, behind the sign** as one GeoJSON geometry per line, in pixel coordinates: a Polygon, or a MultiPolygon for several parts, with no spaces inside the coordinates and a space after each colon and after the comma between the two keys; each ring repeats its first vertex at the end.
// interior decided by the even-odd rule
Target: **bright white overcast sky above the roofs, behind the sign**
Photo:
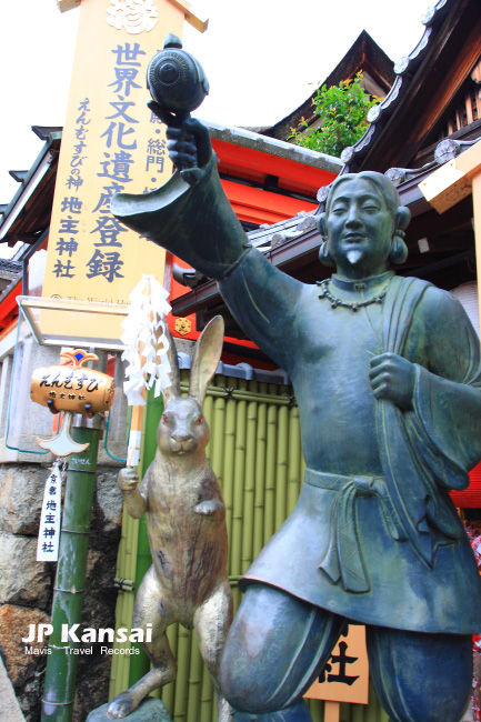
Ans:
{"type": "MultiPolygon", "coordinates": [[[[84,0],[94,2],[97,0],[84,0]]],[[[183,47],[203,66],[210,94],[194,113],[230,126],[268,126],[298,108],[365,29],[392,59],[423,33],[427,0],[192,0],[209,18],[186,24],[183,47]],[[402,9],[401,9],[402,8],[402,9]]],[[[0,203],[42,148],[31,126],[62,126],[79,10],[56,0],[3,0],[0,23],[0,203]]]]}

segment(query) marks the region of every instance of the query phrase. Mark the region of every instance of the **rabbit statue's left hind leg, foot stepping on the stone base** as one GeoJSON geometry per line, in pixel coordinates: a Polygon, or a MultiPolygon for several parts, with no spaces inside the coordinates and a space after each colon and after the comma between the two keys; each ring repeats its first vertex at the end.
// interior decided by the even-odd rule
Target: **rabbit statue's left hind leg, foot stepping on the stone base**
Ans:
{"type": "MultiPolygon", "coordinates": [[[[167,639],[166,629],[174,621],[170,608],[162,594],[153,568],[147,572],[140,585],[133,609],[132,625],[147,631],[152,624],[151,641],[143,646],[152,662],[153,669],[136,684],[118,694],[109,704],[107,713],[112,718],[126,718],[137,710],[141,701],[153,690],[163,686],[176,678],[176,660],[167,639]]],[[[144,639],[147,634],[144,633],[144,639]]]]}

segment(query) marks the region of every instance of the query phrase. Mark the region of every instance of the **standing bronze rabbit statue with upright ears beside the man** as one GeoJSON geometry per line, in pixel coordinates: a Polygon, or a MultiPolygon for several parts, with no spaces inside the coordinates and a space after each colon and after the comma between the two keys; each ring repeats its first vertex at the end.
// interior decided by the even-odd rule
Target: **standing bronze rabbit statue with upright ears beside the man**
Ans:
{"type": "Polygon", "coordinates": [[[112,718],[127,716],[152,690],[176,678],[166,630],[180,622],[197,631],[218,695],[218,721],[231,719],[218,683],[220,655],[232,621],[226,507],[206,458],[209,428],[202,414],[222,340],[223,320],[216,317],[196,344],[189,395],[181,397],[178,358],[170,338],[172,385],[163,391],[154,460],[140,487],[134,469],[122,469],[118,475],[129,514],[139,519],[147,512],[152,565],[136,598],[132,626],[146,630],[147,623],[152,624],[152,641],[144,646],[153,669],[112,700],[108,708],[112,718]]]}

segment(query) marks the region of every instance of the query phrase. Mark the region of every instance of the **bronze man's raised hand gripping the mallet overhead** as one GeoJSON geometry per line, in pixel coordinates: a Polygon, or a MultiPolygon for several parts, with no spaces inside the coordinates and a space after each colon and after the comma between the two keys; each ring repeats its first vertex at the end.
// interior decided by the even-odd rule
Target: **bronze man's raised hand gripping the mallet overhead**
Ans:
{"type": "Polygon", "coordinates": [[[171,112],[154,100],[148,102],[150,110],[167,124],[167,147],[169,158],[188,183],[202,177],[204,168],[212,158],[212,146],[208,129],[198,120],[188,116],[179,124],[171,112]]]}

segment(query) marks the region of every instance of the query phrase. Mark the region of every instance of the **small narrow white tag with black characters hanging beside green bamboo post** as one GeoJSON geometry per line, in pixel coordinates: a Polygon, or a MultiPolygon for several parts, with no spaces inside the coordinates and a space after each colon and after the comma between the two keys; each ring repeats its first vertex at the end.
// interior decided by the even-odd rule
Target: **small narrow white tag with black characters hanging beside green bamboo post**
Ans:
{"type": "Polygon", "coordinates": [[[62,515],[62,472],[60,460],[53,462],[43,492],[40,514],[38,562],[56,562],[59,559],[60,519],[62,515]]]}

